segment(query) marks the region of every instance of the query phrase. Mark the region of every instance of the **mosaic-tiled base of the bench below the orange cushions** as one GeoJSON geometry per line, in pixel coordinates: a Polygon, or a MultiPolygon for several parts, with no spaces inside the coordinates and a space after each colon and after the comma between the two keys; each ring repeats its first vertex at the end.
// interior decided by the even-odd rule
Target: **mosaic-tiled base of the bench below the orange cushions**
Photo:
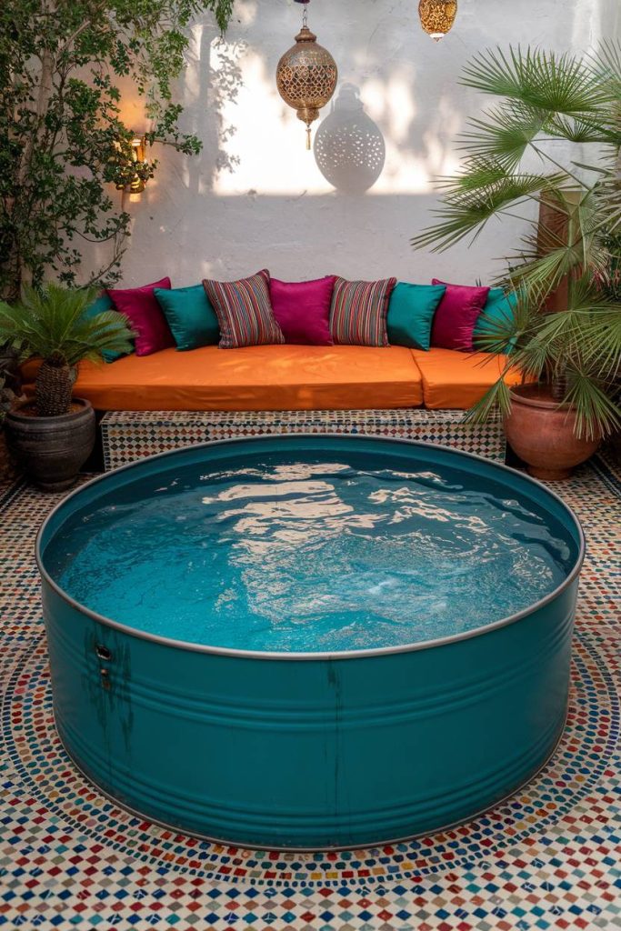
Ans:
{"type": "Polygon", "coordinates": [[[106,470],[155,452],[216,439],[282,433],[364,433],[421,439],[503,462],[505,437],[496,418],[463,423],[462,411],[109,412],[101,419],[106,470]]]}

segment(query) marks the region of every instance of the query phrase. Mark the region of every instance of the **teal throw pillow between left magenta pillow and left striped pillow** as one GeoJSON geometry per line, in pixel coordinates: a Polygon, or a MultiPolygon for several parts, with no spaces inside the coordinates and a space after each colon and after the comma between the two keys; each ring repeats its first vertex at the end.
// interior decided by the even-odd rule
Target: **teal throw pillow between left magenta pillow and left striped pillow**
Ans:
{"type": "Polygon", "coordinates": [[[179,351],[217,345],[220,342],[218,317],[202,285],[155,288],[154,293],[179,351]]]}

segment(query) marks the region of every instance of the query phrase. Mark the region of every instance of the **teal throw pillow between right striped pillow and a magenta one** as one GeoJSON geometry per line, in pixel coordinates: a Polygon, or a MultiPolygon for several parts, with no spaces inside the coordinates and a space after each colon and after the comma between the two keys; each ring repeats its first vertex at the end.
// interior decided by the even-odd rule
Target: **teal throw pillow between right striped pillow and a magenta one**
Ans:
{"type": "Polygon", "coordinates": [[[445,285],[411,285],[399,281],[388,304],[388,342],[412,349],[428,349],[434,314],[445,291],[445,285]]]}

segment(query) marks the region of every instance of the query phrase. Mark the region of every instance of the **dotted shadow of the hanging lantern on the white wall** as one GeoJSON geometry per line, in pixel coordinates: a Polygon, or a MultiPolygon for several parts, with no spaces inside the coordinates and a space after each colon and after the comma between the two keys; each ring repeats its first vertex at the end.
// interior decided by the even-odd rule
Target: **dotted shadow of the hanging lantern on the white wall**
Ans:
{"type": "Polygon", "coordinates": [[[343,84],[315,136],[317,168],[344,194],[363,194],[378,180],[385,165],[381,129],[365,113],[354,84],[343,84]]]}

